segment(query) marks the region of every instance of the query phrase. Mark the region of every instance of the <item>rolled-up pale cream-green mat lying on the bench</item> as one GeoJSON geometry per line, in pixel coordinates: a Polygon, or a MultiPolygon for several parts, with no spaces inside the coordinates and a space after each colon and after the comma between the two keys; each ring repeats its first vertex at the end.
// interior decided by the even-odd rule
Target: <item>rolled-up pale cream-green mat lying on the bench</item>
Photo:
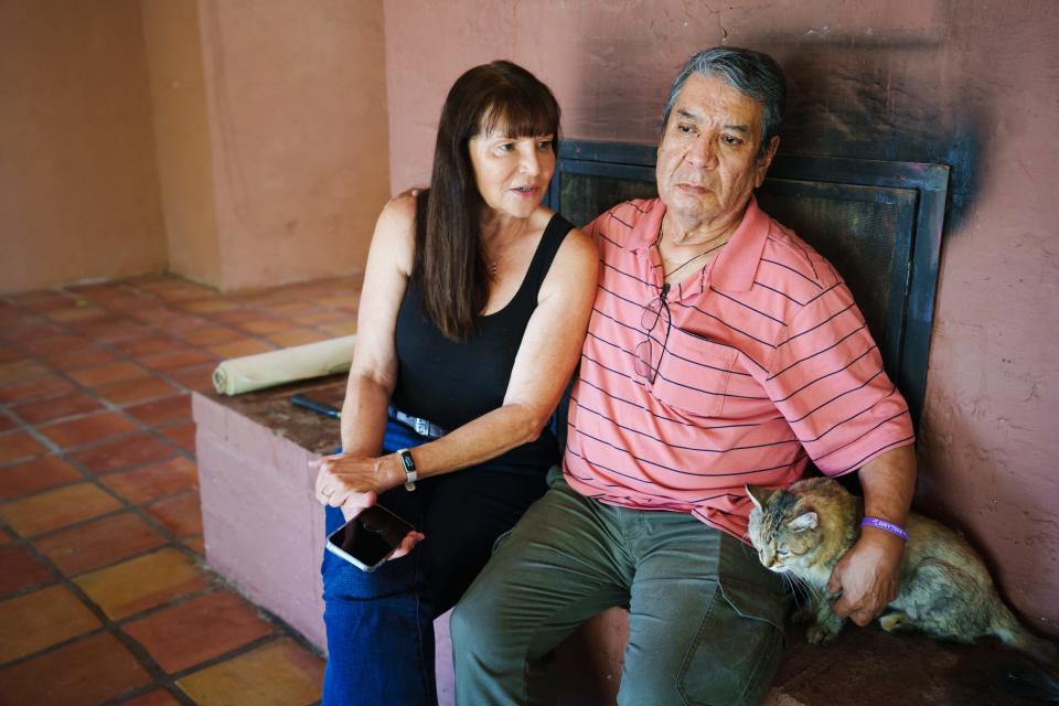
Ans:
{"type": "Polygon", "coordinates": [[[213,386],[222,395],[239,395],[299,379],[344,373],[353,362],[355,341],[355,335],[346,335],[234,357],[224,361],[213,371],[213,386]]]}

